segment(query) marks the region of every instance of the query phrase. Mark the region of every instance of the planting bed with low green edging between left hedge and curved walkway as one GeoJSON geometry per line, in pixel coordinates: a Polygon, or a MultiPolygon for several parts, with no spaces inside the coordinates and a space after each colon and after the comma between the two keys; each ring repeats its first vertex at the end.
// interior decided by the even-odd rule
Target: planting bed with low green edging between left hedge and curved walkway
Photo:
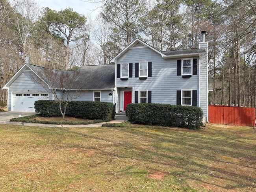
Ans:
{"type": "Polygon", "coordinates": [[[38,114],[36,115],[30,115],[30,116],[24,116],[21,118],[15,117],[10,119],[12,122],[26,122],[26,123],[39,123],[39,124],[56,124],[56,125],[88,125],[88,124],[95,124],[95,123],[101,123],[106,122],[108,120],[101,120],[101,119],[82,119],[82,118],[75,118],[75,117],[69,117],[65,116],[65,119],[59,116],[55,117],[42,117],[38,114]]]}

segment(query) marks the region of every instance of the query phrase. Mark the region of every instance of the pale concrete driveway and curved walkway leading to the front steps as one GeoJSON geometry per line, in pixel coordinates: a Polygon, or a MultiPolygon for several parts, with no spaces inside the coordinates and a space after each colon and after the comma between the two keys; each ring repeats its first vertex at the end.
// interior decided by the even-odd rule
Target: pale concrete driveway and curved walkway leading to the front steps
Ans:
{"type": "MultiPolygon", "coordinates": [[[[28,116],[35,114],[34,112],[17,112],[17,111],[7,111],[0,113],[0,124],[7,124],[7,125],[22,125],[20,122],[10,122],[11,118],[18,117],[19,114],[21,116],[28,116]]],[[[108,123],[120,123],[124,122],[123,120],[113,120],[108,123]]],[[[88,125],[52,125],[52,124],[37,124],[37,123],[24,123],[24,126],[37,126],[37,127],[101,127],[102,123],[95,123],[95,124],[88,124],[88,125]]]]}

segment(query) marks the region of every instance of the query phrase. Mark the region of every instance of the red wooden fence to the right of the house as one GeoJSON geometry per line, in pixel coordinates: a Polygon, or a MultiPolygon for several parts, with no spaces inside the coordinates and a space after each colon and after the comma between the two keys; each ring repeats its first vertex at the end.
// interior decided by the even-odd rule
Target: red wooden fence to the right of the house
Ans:
{"type": "Polygon", "coordinates": [[[208,121],[223,125],[255,127],[255,108],[209,105],[208,121]]]}

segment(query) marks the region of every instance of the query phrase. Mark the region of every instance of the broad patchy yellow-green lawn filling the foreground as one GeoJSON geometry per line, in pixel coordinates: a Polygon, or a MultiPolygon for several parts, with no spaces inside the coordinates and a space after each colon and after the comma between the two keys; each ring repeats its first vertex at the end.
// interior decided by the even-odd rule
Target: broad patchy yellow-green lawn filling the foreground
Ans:
{"type": "Polygon", "coordinates": [[[256,191],[256,131],[0,126],[0,191],[256,191]]]}

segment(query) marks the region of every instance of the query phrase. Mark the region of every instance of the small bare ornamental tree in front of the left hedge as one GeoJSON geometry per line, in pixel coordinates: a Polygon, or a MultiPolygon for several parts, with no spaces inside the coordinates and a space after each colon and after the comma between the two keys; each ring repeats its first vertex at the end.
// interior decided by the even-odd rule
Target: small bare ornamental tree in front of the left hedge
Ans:
{"type": "Polygon", "coordinates": [[[72,71],[39,68],[35,72],[37,75],[31,74],[31,78],[53,94],[54,100],[59,102],[59,111],[63,119],[69,103],[85,94],[87,90],[83,89],[83,86],[90,81],[82,77],[80,68],[72,71]]]}

